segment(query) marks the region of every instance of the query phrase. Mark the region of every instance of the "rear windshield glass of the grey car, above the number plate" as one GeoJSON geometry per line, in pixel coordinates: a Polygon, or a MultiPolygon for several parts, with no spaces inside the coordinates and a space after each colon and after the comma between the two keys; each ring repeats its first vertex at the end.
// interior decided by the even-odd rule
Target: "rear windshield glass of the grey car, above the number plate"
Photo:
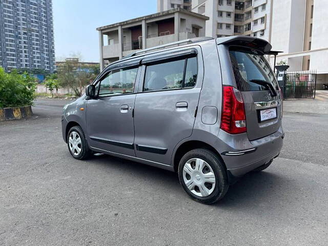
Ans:
{"type": "Polygon", "coordinates": [[[230,59],[239,91],[265,91],[268,87],[251,82],[251,80],[264,80],[273,85],[275,90],[278,84],[263,55],[254,54],[251,50],[229,50],[230,59]]]}

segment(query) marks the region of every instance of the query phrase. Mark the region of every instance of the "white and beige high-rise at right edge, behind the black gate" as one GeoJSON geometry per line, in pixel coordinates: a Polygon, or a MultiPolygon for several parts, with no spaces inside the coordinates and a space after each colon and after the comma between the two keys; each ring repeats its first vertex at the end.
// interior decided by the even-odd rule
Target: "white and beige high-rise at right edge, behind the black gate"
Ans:
{"type": "MultiPolygon", "coordinates": [[[[321,0],[274,1],[271,44],[289,71],[316,70],[317,89],[328,84],[328,5],[321,0]]],[[[273,65],[273,59],[271,64],[273,65]]]]}

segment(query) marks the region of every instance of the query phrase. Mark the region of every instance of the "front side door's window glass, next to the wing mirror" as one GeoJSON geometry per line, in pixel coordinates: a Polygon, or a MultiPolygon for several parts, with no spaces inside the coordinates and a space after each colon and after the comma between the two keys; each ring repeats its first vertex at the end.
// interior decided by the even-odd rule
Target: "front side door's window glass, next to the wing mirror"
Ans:
{"type": "Polygon", "coordinates": [[[99,95],[133,93],[138,68],[111,71],[100,81],[99,95]]]}

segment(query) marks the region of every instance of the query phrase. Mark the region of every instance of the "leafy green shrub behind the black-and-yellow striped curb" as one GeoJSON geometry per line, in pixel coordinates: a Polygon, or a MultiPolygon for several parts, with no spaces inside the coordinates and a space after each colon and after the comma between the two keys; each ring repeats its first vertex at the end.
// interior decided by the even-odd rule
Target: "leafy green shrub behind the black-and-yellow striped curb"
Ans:
{"type": "Polygon", "coordinates": [[[34,77],[17,71],[6,73],[0,67],[0,108],[32,105],[35,87],[34,77]]]}

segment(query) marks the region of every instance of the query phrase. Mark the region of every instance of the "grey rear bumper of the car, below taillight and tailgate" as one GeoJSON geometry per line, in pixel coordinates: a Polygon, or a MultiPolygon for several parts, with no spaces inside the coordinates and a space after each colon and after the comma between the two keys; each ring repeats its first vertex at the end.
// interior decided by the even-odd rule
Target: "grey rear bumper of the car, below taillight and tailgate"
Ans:
{"type": "Polygon", "coordinates": [[[253,141],[248,140],[247,134],[238,134],[233,137],[227,134],[223,131],[219,133],[223,141],[230,139],[224,141],[227,149],[221,153],[221,157],[232,177],[240,177],[277,157],[284,138],[282,127],[269,136],[253,141]]]}

